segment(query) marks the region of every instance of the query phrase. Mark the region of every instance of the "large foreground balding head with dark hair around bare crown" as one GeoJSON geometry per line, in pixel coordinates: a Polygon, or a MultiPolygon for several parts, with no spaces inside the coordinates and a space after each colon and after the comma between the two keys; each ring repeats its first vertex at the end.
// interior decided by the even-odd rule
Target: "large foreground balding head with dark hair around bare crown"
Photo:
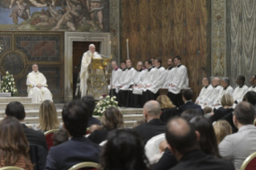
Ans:
{"type": "Polygon", "coordinates": [[[195,129],[181,117],[169,120],[165,136],[171,148],[182,155],[199,148],[195,129]]]}

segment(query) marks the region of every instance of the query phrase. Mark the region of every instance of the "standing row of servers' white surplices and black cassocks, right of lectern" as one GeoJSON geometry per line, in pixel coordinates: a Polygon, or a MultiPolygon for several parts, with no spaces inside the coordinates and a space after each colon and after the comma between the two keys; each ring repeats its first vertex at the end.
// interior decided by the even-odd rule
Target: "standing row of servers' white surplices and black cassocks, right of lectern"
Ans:
{"type": "Polygon", "coordinates": [[[148,59],[145,69],[113,68],[109,94],[116,96],[120,107],[143,107],[147,101],[156,100],[160,89],[168,89],[173,104],[177,107],[182,105],[181,89],[189,87],[187,68],[179,64],[165,70],[161,63],[158,64],[155,66],[148,59]]]}

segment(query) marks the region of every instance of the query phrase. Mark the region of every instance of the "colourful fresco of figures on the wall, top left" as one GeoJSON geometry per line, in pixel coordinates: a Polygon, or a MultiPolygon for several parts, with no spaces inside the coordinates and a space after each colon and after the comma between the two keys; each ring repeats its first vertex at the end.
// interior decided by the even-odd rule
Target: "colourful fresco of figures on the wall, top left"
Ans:
{"type": "Polygon", "coordinates": [[[0,0],[0,30],[109,31],[109,0],[0,0]]]}

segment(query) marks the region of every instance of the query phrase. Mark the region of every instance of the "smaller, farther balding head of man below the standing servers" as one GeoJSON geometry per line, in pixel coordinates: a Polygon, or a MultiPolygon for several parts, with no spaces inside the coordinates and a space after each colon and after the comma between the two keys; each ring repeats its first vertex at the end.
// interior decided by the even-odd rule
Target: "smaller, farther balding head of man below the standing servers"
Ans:
{"type": "Polygon", "coordinates": [[[152,118],[160,118],[161,106],[155,100],[150,100],[144,104],[143,112],[152,118]]]}

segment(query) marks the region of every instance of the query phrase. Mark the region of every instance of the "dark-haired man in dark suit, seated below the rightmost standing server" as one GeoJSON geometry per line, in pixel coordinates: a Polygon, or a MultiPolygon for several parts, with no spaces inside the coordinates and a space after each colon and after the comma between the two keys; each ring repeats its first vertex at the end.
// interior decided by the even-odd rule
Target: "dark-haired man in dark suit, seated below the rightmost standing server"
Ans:
{"type": "Polygon", "coordinates": [[[198,109],[202,112],[201,106],[196,103],[193,103],[192,98],[193,98],[193,91],[191,89],[182,91],[182,99],[185,104],[181,105],[180,107],[177,107],[177,111],[182,113],[183,111],[188,110],[189,108],[193,108],[193,109],[198,109]]]}

